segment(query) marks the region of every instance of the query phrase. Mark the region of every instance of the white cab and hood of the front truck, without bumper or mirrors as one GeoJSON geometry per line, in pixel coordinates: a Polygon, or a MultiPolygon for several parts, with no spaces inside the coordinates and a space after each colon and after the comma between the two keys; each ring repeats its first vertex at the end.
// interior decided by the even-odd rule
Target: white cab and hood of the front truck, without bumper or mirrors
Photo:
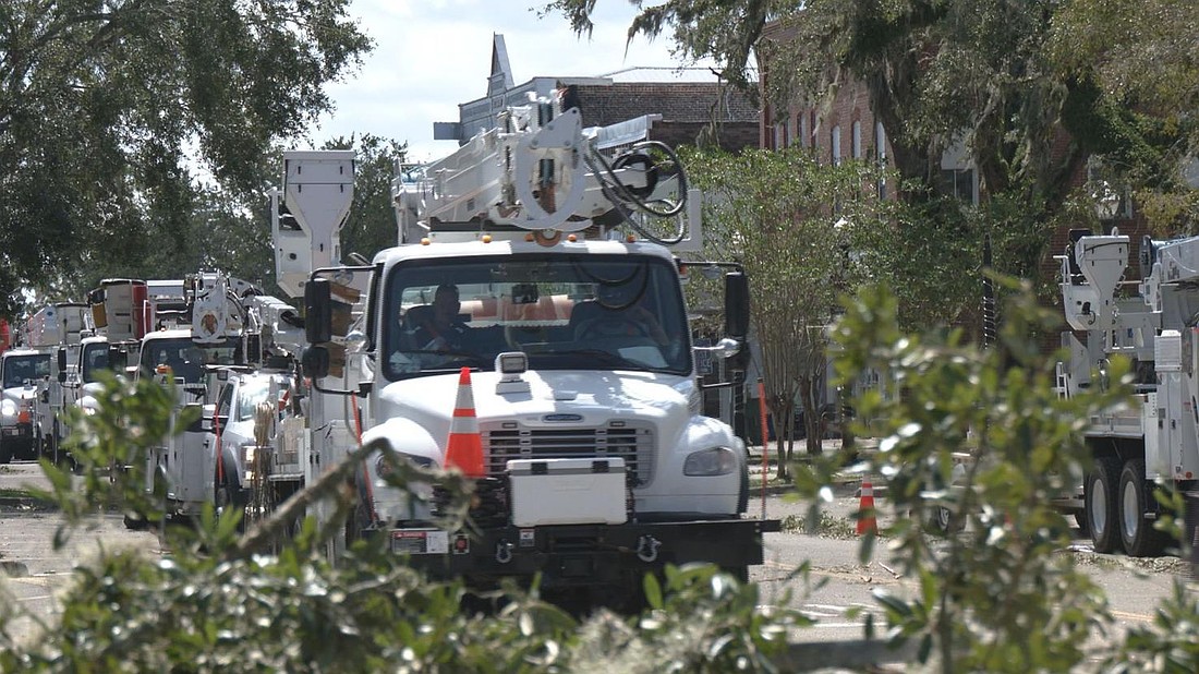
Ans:
{"type": "MultiPolygon", "coordinates": [[[[664,249],[623,242],[440,248],[445,257],[410,257],[423,252],[417,247],[376,260],[385,270],[376,307],[386,357],[368,405],[370,425],[380,425],[374,433],[399,438],[399,426],[418,427],[397,449],[442,465],[458,373],[469,367],[489,475],[502,475],[512,459],[592,456],[602,443],[598,453],[623,459],[641,517],[740,513],[743,444],[698,414],[677,267],[664,249]],[[420,329],[411,315],[445,278],[456,279],[460,294],[457,349],[414,339],[420,329]],[[524,355],[518,385],[500,385],[501,353],[524,355]],[[711,456],[692,464],[721,468],[686,480],[697,444],[711,456]]],[[[400,495],[381,486],[374,493],[384,520],[403,518],[400,495]]]]}

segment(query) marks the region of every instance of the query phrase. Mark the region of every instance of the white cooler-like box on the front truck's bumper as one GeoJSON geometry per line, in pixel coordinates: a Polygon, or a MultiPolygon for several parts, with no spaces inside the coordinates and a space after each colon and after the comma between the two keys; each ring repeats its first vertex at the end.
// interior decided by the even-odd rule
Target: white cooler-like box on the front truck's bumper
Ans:
{"type": "Polygon", "coordinates": [[[550,458],[507,463],[512,524],[623,524],[625,459],[550,458]]]}

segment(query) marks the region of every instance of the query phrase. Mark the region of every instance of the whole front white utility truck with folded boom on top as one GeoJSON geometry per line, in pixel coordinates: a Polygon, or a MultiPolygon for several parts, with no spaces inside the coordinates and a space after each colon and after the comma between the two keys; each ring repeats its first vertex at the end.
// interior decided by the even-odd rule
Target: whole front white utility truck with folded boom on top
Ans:
{"type": "Polygon", "coordinates": [[[746,578],[778,523],[745,517],[745,445],[701,415],[682,291],[687,270],[724,272],[728,337],[710,353],[739,362],[745,275],[683,263],[663,245],[698,242],[698,206],[686,201],[697,194],[677,161],[661,158],[669,149],[602,156],[603,131],[585,133],[578,109],[556,98],[502,119],[415,179],[397,177],[402,245],[369,265],[329,255],[353,155],[284,155],[278,277],[305,296],[312,389],[297,389],[305,404],[272,423],[258,452],[299,488],[360,443],[386,447],[357,467],[347,537],[382,537],[475,588],[540,574],[547,592],[621,603],[667,564],[746,578]],[[651,217],[675,233],[656,236],[651,217]],[[458,408],[464,387],[470,410],[458,408]],[[414,505],[388,485],[387,456],[447,467],[462,416],[477,422],[472,477],[486,504],[469,530],[445,530],[436,503],[414,505]]]}

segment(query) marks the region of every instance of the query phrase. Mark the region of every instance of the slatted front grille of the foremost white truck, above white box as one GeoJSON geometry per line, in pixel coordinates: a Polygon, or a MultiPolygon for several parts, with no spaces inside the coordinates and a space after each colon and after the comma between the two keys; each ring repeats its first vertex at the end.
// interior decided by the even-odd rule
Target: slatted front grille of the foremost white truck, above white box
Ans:
{"type": "Polygon", "coordinates": [[[512,459],[620,457],[635,486],[653,479],[653,429],[625,422],[601,428],[528,428],[514,421],[483,425],[488,475],[504,475],[512,459]]]}

